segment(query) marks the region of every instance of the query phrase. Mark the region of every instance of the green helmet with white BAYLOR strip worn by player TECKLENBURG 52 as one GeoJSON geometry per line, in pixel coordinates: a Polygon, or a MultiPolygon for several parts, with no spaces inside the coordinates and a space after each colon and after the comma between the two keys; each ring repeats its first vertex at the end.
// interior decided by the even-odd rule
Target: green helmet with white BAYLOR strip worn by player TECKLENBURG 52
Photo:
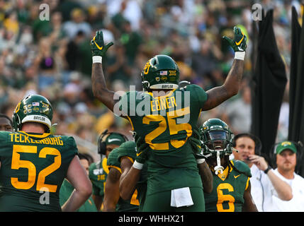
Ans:
{"type": "Polygon", "coordinates": [[[13,112],[13,129],[21,130],[23,123],[27,121],[45,124],[50,132],[52,121],[52,105],[47,98],[41,95],[28,95],[18,103],[13,112]]]}

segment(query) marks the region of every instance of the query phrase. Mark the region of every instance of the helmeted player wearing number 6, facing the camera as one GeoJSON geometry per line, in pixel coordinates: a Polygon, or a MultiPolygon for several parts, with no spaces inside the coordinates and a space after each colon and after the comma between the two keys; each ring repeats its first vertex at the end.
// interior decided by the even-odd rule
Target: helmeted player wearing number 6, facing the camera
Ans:
{"type": "Polygon", "coordinates": [[[220,119],[208,119],[200,128],[203,155],[213,172],[213,191],[205,194],[206,212],[257,212],[252,196],[249,167],[229,160],[233,133],[220,119]]]}

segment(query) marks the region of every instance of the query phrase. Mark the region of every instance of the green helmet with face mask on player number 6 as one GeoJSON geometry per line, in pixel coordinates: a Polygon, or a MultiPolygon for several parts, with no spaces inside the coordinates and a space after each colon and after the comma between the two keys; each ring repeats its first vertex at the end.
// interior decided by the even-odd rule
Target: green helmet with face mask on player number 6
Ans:
{"type": "Polygon", "coordinates": [[[216,156],[217,150],[220,157],[232,154],[233,133],[229,126],[220,119],[208,119],[200,127],[203,155],[216,156]]]}

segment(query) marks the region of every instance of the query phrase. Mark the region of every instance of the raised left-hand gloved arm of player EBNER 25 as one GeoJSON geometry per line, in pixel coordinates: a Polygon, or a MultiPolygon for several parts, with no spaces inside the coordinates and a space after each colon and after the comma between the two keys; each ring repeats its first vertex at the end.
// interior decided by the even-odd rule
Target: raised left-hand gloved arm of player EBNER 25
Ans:
{"type": "Polygon", "coordinates": [[[93,40],[91,40],[91,53],[93,59],[91,73],[92,91],[94,97],[103,102],[103,104],[113,112],[113,107],[116,100],[114,100],[114,92],[108,90],[106,86],[106,80],[103,75],[102,67],[102,57],[112,45],[113,42],[109,42],[106,45],[104,44],[103,33],[101,30],[98,30],[93,40]]]}

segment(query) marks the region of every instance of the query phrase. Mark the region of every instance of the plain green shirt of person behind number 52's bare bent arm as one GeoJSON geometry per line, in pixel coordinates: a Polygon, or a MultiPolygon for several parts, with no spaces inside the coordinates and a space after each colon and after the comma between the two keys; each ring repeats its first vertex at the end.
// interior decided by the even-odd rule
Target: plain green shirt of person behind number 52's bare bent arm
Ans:
{"type": "MultiPolygon", "coordinates": [[[[63,204],[67,201],[69,196],[71,196],[72,192],[74,191],[74,186],[70,184],[67,179],[64,179],[62,186],[60,188],[60,206],[63,206],[63,204]]],[[[97,208],[95,206],[95,203],[93,201],[93,198],[90,196],[86,202],[79,207],[77,212],[97,212],[97,208]]]]}

